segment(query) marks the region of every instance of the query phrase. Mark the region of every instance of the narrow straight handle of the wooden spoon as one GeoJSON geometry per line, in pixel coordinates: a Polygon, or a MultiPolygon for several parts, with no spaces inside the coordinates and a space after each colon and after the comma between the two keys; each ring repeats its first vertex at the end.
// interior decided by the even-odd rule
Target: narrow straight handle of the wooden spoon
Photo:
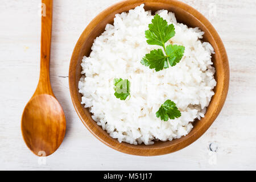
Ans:
{"type": "Polygon", "coordinates": [[[42,0],[40,78],[36,93],[53,94],[49,79],[49,60],[52,34],[52,0],[42,0]]]}

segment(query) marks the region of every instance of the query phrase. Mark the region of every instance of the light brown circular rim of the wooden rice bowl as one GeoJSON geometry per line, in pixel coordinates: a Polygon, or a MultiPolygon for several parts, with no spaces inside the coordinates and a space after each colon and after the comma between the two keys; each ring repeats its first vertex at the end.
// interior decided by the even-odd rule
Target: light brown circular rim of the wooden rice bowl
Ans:
{"type": "MultiPolygon", "coordinates": [[[[226,55],[225,47],[224,47],[224,44],[222,43],[220,36],[217,34],[217,31],[214,29],[212,24],[207,20],[207,18],[204,17],[204,15],[199,13],[199,11],[193,9],[193,7],[187,5],[186,3],[180,2],[180,1],[158,0],[158,2],[154,2],[154,3],[160,2],[160,3],[172,4],[174,6],[177,6],[180,9],[187,11],[187,13],[193,15],[199,22],[201,22],[205,26],[205,28],[208,29],[210,34],[214,37],[214,42],[216,42],[218,50],[222,51],[221,59],[222,59],[223,63],[221,63],[221,64],[223,64],[223,69],[224,69],[224,72],[223,72],[224,81],[223,81],[223,83],[218,83],[218,84],[221,84],[222,87],[220,90],[221,97],[217,100],[216,113],[214,113],[213,117],[209,118],[208,126],[205,126],[206,124],[203,124],[197,130],[197,132],[195,132],[193,135],[190,135],[189,137],[187,137],[188,136],[187,135],[187,136],[183,136],[179,139],[175,139],[175,140],[173,140],[174,142],[168,146],[152,148],[152,146],[154,146],[154,144],[152,144],[151,147],[146,146],[143,148],[138,148],[137,147],[138,145],[135,146],[133,144],[128,144],[125,142],[119,143],[117,139],[114,139],[115,142],[113,142],[113,138],[110,139],[111,137],[109,136],[109,134],[108,134],[108,136],[101,135],[100,132],[96,131],[97,129],[93,128],[92,125],[89,125],[90,121],[89,121],[89,119],[86,119],[86,116],[85,116],[85,118],[82,117],[82,112],[83,112],[82,107],[84,107],[84,105],[81,105],[79,102],[77,102],[77,101],[79,101],[78,100],[79,96],[77,96],[78,88],[76,88],[76,77],[75,77],[75,70],[73,69],[73,65],[78,64],[77,59],[79,57],[79,52],[81,50],[82,43],[84,43],[84,38],[89,36],[90,31],[93,30],[93,28],[96,27],[97,24],[99,22],[101,22],[101,20],[104,19],[104,18],[102,18],[103,15],[109,14],[109,12],[112,11],[112,9],[115,9],[115,7],[120,7],[125,3],[142,4],[142,3],[147,3],[147,2],[154,2],[154,1],[153,0],[125,0],[125,1],[117,2],[114,5],[109,6],[104,11],[101,11],[101,13],[98,14],[88,24],[88,26],[86,26],[84,31],[82,31],[82,34],[80,35],[80,38],[77,41],[75,48],[73,49],[71,62],[69,64],[69,78],[68,79],[69,79],[69,90],[70,90],[73,106],[75,107],[76,113],[79,115],[79,118],[81,119],[82,123],[84,123],[85,127],[90,131],[90,133],[92,133],[102,143],[106,144],[107,146],[109,146],[117,151],[120,151],[120,152],[123,152],[126,154],[131,154],[131,155],[155,156],[155,155],[169,154],[171,152],[181,150],[182,148],[187,147],[189,144],[195,142],[195,140],[200,138],[201,135],[203,135],[205,133],[205,131],[207,131],[209,129],[210,125],[212,125],[212,123],[216,119],[217,115],[220,113],[222,106],[224,105],[226,96],[228,94],[229,63],[228,63],[228,56],[226,55]]],[[[214,50],[214,51],[216,51],[216,50],[214,50]]],[[[213,98],[211,99],[210,102],[212,102],[212,100],[213,100],[213,98]]],[[[104,131],[102,128],[101,128],[101,130],[104,131]]]]}

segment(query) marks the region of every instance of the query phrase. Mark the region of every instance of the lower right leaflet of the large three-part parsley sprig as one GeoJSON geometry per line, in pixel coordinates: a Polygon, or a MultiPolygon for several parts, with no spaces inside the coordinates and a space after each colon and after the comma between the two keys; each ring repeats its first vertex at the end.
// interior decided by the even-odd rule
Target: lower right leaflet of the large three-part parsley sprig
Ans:
{"type": "Polygon", "coordinates": [[[185,47],[177,45],[168,45],[166,47],[166,54],[171,67],[175,66],[183,57],[185,47]]]}

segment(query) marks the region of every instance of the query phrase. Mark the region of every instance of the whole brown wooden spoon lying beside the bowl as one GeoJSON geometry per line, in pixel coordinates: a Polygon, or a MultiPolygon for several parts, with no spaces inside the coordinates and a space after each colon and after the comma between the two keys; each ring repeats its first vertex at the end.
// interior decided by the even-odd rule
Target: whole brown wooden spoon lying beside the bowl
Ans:
{"type": "Polygon", "coordinates": [[[28,148],[38,156],[47,156],[55,152],[63,141],[66,121],[49,79],[52,0],[42,0],[42,3],[40,78],[34,95],[24,108],[21,128],[28,148]]]}

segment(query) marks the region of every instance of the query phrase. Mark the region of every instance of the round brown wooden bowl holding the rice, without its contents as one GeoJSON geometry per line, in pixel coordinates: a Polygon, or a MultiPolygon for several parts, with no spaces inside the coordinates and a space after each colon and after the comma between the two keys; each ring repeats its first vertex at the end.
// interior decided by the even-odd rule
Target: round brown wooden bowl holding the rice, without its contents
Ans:
{"type": "Polygon", "coordinates": [[[179,1],[129,0],[110,6],[108,9],[98,14],[82,32],[73,51],[69,66],[69,89],[71,98],[82,123],[84,123],[87,129],[95,135],[95,137],[101,140],[101,142],[115,150],[133,155],[154,156],[168,154],[195,142],[195,140],[203,135],[209,126],[212,125],[214,119],[220,113],[226,94],[228,93],[228,86],[229,63],[220,36],[218,36],[212,24],[210,24],[202,14],[191,6],[179,1]],[[134,9],[134,7],[139,6],[142,3],[145,5],[145,10],[152,10],[154,13],[156,10],[166,9],[175,13],[177,22],[187,24],[189,27],[199,27],[205,32],[203,40],[212,44],[214,51],[216,52],[212,57],[212,61],[216,68],[215,79],[217,85],[214,88],[215,94],[210,101],[205,117],[200,121],[193,122],[194,127],[188,135],[172,141],[158,141],[150,146],[144,144],[133,145],[125,142],[119,143],[117,139],[110,137],[106,131],[102,130],[101,126],[98,126],[97,123],[93,121],[91,117],[92,114],[89,113],[88,109],[85,109],[84,105],[80,104],[81,94],[78,89],[78,82],[81,77],[82,56],[89,56],[93,40],[104,32],[107,23],[112,24],[114,22],[115,14],[134,9]]]}

